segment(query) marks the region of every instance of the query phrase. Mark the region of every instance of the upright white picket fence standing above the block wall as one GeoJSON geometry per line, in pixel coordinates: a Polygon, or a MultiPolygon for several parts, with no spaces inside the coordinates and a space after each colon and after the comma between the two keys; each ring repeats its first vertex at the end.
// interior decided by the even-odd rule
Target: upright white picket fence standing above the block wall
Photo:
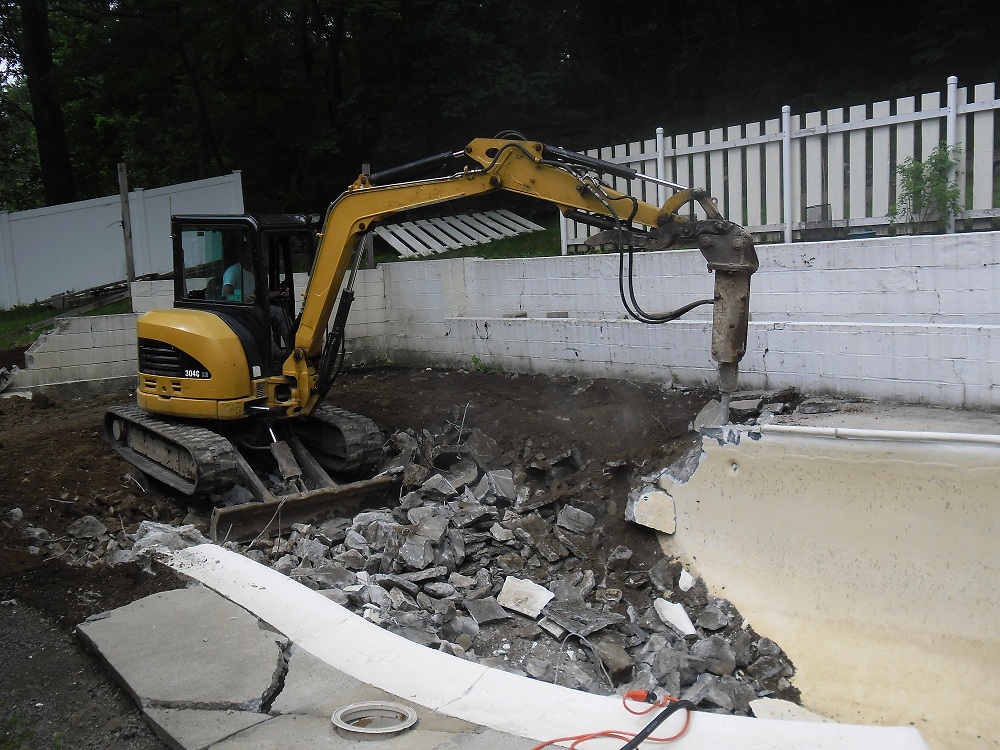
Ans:
{"type": "MultiPolygon", "coordinates": [[[[961,149],[956,181],[965,210],[959,220],[989,228],[1000,216],[994,195],[997,148],[996,84],[970,92],[948,79],[934,91],[894,101],[782,116],[608,146],[587,153],[627,164],[641,174],[705,188],[720,211],[758,238],[806,239],[811,230],[841,236],[881,232],[899,191],[896,166],[926,159],[941,143],[961,149]],[[971,93],[971,99],[970,99],[971,93]]],[[[662,205],[666,188],[616,178],[614,186],[662,205]]],[[[562,220],[564,254],[595,230],[562,220]]]]}

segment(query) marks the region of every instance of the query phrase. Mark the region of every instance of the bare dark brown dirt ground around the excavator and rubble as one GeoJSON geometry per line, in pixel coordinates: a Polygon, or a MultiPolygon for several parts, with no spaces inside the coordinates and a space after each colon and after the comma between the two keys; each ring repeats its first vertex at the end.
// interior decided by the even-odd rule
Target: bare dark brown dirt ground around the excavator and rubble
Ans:
{"type": "MultiPolygon", "coordinates": [[[[711,397],[630,381],[379,369],[345,374],[328,402],[369,416],[386,435],[407,427],[433,433],[451,422],[479,428],[522,455],[576,448],[585,463],[571,491],[606,502],[609,543],[652,565],[661,554],[655,535],[622,518],[630,482],[694,442],[689,424],[711,397]]],[[[163,572],[42,559],[30,554],[21,531],[41,527],[59,537],[83,515],[132,531],[142,520],[187,515],[186,501],[168,491],[142,492],[131,479],[135,470],[100,436],[105,408],[131,399],[127,392],[0,399],[0,750],[163,747],[73,628],[182,584],[163,572]],[[10,523],[15,508],[23,514],[17,525],[10,523]]]]}

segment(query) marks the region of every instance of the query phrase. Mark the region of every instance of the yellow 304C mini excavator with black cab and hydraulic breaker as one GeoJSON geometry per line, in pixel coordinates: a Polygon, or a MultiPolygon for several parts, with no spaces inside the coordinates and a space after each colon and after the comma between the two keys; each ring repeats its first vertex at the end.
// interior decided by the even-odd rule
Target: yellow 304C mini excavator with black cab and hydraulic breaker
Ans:
{"type": "Polygon", "coordinates": [[[127,461],[187,495],[223,495],[235,485],[265,503],[325,500],[352,488],[363,494],[371,480],[333,477],[371,468],[381,456],[378,429],[323,403],[343,364],[363,240],[400,211],[499,191],[551,202],[597,227],[588,242],[618,247],[622,302],[634,318],[664,323],[713,304],[712,357],[726,413],[757,270],[750,235],[702,190],[507,133],[362,174],[330,206],[318,234],[298,215],[173,217],[174,307],[139,318],[137,403],[108,411],[105,437],[127,461]],[[425,177],[444,170],[447,176],[425,177]],[[675,192],[657,207],[615,190],[604,175],[675,192]],[[692,203],[703,218],[682,215],[692,203]],[[642,310],[634,253],[678,244],[704,254],[715,272],[714,299],[668,313],[642,310]],[[294,284],[301,271],[309,272],[304,290],[294,284]],[[296,294],[303,297],[297,316],[296,294]]]}

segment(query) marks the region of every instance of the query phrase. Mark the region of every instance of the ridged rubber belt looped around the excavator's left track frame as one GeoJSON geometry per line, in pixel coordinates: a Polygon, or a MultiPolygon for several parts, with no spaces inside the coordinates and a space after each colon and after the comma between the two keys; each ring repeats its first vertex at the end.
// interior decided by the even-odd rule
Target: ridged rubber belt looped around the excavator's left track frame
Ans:
{"type": "Polygon", "coordinates": [[[113,406],[105,414],[104,436],[126,461],[186,495],[222,493],[236,483],[236,449],[226,438],[204,427],[168,422],[135,405],[113,406]],[[124,420],[129,429],[138,427],[147,435],[187,453],[195,465],[196,476],[181,477],[148,456],[119,443],[111,432],[113,417],[124,420]]]}

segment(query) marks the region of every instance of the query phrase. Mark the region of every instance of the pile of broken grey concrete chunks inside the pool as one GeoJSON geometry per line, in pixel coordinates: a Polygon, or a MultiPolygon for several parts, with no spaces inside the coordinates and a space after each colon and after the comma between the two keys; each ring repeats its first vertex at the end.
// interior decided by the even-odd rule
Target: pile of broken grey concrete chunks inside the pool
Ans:
{"type": "MultiPolygon", "coordinates": [[[[539,680],[737,715],[757,697],[797,698],[790,661],[728,601],[679,562],[648,567],[605,536],[609,505],[621,509],[601,492],[574,495],[576,450],[548,456],[529,442],[502,455],[479,430],[449,425],[397,433],[386,456],[380,470],[402,479],[397,507],[224,546],[410,640],[539,680]]],[[[53,539],[15,515],[4,520],[34,553],[77,564],[148,568],[158,551],[208,541],[191,524],[127,534],[93,516],[53,539]]]]}

